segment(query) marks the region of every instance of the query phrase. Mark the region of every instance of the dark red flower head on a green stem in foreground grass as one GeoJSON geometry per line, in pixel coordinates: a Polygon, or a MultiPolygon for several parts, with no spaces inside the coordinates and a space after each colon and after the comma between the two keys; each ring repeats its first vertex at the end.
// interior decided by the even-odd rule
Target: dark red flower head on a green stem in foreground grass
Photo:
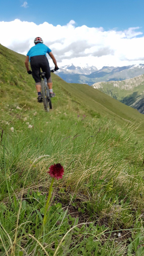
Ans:
{"type": "Polygon", "coordinates": [[[49,175],[55,179],[62,179],[64,175],[64,168],[61,164],[54,164],[49,167],[49,175]]]}

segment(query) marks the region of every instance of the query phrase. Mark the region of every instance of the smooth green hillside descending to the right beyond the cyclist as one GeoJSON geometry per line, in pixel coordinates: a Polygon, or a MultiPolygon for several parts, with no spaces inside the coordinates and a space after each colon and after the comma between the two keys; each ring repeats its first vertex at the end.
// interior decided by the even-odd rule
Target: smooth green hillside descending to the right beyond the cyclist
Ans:
{"type": "Polygon", "coordinates": [[[123,125],[130,122],[136,128],[137,134],[143,134],[144,116],[136,109],[130,108],[86,84],[66,83],[57,76],[54,79],[54,86],[66,92],[66,95],[69,95],[70,99],[75,102],[74,108],[77,106],[77,109],[82,109],[93,117],[106,116],[123,125]]]}

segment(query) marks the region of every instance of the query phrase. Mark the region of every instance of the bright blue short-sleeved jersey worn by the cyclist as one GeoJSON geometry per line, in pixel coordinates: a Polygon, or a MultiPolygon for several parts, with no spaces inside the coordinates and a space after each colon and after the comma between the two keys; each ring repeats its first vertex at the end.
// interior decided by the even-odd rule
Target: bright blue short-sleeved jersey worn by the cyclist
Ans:
{"type": "Polygon", "coordinates": [[[30,61],[30,57],[38,56],[38,55],[46,56],[46,54],[49,52],[51,52],[51,50],[46,45],[39,43],[33,46],[32,48],[30,48],[30,50],[27,53],[27,56],[29,56],[29,61],[30,61]]]}

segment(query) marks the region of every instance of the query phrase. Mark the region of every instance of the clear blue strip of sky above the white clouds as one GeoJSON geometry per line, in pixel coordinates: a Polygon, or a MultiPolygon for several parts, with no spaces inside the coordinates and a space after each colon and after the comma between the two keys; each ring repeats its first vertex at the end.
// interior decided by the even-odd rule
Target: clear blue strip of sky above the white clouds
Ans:
{"type": "Polygon", "coordinates": [[[18,18],[37,25],[48,22],[56,26],[66,25],[73,19],[76,26],[103,27],[105,30],[141,27],[144,30],[143,0],[5,0],[0,10],[0,21],[18,18]]]}

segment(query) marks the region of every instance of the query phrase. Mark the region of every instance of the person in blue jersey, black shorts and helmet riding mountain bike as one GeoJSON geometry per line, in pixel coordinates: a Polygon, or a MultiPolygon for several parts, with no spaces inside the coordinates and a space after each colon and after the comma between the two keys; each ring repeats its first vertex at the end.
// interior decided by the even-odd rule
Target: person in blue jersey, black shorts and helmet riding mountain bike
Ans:
{"type": "Polygon", "coordinates": [[[36,37],[34,40],[35,46],[30,48],[30,50],[27,53],[27,57],[25,60],[25,66],[27,69],[28,74],[32,74],[35,82],[36,82],[36,89],[38,93],[38,102],[42,102],[42,94],[41,94],[41,77],[40,77],[40,68],[42,69],[43,72],[46,72],[46,79],[47,79],[47,85],[49,88],[49,94],[50,97],[55,97],[55,93],[53,92],[52,86],[52,78],[50,76],[50,68],[49,68],[49,62],[46,57],[46,53],[49,54],[49,56],[52,58],[54,64],[55,64],[55,70],[58,70],[57,62],[52,54],[52,51],[43,44],[43,40],[41,37],[36,37]],[[30,66],[32,68],[32,71],[29,69],[29,62],[30,66]]]}

